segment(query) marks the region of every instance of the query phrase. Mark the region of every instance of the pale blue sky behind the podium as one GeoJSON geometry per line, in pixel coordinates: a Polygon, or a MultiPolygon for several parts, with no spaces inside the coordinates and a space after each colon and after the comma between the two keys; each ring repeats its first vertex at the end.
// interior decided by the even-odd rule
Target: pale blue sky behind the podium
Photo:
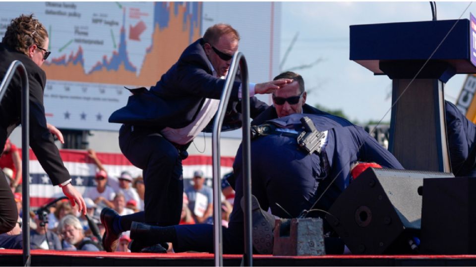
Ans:
{"type": "MultiPolygon", "coordinates": [[[[476,3],[436,2],[437,19],[470,18],[476,3]]],[[[369,120],[390,122],[391,80],[349,60],[349,26],[359,24],[431,20],[428,1],[405,2],[282,2],[281,60],[298,33],[282,70],[295,70],[304,78],[306,103],[341,109],[348,119],[360,124],[369,120]]],[[[455,102],[466,79],[459,74],[445,86],[445,99],[455,102]]]]}

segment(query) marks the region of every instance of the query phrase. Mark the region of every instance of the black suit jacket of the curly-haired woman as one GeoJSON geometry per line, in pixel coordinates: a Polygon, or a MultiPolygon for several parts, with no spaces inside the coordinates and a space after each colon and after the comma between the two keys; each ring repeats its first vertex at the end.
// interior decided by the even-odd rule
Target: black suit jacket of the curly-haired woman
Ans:
{"type": "MultiPolygon", "coordinates": [[[[25,65],[28,73],[30,86],[30,147],[53,185],[60,184],[70,177],[68,171],[64,168],[53,135],[46,127],[45,107],[43,106],[43,91],[46,83],[45,72],[27,55],[0,44],[0,77],[2,79],[14,60],[20,60],[25,65]]],[[[0,102],[0,147],[4,146],[6,138],[20,124],[20,116],[21,79],[20,74],[16,72],[0,102]]]]}

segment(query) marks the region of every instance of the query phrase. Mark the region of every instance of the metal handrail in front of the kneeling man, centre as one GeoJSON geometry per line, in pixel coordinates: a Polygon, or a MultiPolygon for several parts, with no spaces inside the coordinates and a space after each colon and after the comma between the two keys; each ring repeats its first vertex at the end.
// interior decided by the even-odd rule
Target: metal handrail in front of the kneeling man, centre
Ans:
{"type": "MultiPolygon", "coordinates": [[[[212,159],[213,159],[213,239],[215,266],[223,266],[223,241],[222,241],[222,210],[221,210],[221,190],[220,190],[220,133],[225,117],[226,107],[230,100],[230,93],[235,82],[235,77],[240,68],[241,77],[241,112],[243,114],[243,136],[242,136],[242,152],[243,152],[243,196],[244,206],[243,222],[244,222],[244,266],[252,266],[252,243],[251,243],[251,160],[250,160],[250,126],[249,126],[249,89],[248,89],[248,66],[243,53],[236,52],[233,56],[230,69],[228,71],[227,80],[223,87],[220,105],[218,106],[217,116],[213,123],[212,134],[212,159]]],[[[238,199],[238,201],[240,201],[238,199]]]]}

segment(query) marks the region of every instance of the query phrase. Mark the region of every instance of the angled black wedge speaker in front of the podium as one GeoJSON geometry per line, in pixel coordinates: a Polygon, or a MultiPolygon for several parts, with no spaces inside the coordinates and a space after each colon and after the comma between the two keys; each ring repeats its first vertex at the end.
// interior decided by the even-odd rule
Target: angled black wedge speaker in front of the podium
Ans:
{"type": "Polygon", "coordinates": [[[423,178],[451,173],[368,168],[336,199],[326,220],[353,254],[414,253],[423,178]]]}

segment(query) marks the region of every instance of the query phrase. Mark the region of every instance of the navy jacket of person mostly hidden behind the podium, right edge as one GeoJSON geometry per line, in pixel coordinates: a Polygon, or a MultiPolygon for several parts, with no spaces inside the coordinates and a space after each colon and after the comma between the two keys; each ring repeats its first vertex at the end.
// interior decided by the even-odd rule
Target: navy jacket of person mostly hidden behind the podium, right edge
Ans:
{"type": "Polygon", "coordinates": [[[445,115],[453,174],[476,177],[476,125],[448,101],[445,101],[445,115]]]}

